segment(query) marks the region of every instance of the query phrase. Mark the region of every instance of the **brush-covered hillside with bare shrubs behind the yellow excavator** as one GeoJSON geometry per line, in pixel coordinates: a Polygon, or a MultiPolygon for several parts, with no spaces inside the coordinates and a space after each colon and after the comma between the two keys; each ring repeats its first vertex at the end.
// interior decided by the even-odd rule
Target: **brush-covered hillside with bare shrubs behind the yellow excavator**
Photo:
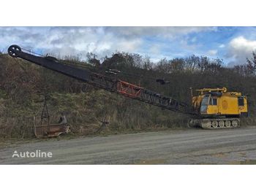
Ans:
{"type": "MultiPolygon", "coordinates": [[[[226,69],[208,62],[193,68],[173,59],[168,63],[134,64],[125,54],[106,58],[103,72],[121,70],[121,79],[140,84],[150,90],[170,95],[189,103],[189,87],[227,87],[249,95],[251,117],[244,124],[255,123],[255,77],[245,76],[235,69],[226,69]],[[183,64],[183,65],[182,65],[183,64]],[[183,68],[182,68],[182,67],[183,68]],[[192,70],[193,69],[193,70],[192,70]],[[170,80],[162,86],[157,77],[170,80]]],[[[76,63],[77,64],[77,63],[76,63]]],[[[89,67],[86,63],[79,63],[89,67]]],[[[92,68],[97,71],[97,68],[92,68]]],[[[86,85],[39,66],[0,55],[0,137],[26,139],[33,137],[33,118],[39,122],[44,95],[47,94],[50,122],[56,123],[63,112],[74,135],[94,134],[109,122],[105,133],[186,127],[189,116],[159,109],[155,106],[124,98],[115,93],[86,85]]]]}

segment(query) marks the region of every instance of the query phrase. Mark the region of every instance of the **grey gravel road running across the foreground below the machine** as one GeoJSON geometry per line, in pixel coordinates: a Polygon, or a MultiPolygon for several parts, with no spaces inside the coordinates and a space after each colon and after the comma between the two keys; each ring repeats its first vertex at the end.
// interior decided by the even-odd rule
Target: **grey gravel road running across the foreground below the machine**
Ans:
{"type": "Polygon", "coordinates": [[[50,139],[0,149],[0,164],[256,164],[256,127],[165,130],[71,140],[50,139]],[[12,157],[19,152],[52,157],[12,157]]]}

